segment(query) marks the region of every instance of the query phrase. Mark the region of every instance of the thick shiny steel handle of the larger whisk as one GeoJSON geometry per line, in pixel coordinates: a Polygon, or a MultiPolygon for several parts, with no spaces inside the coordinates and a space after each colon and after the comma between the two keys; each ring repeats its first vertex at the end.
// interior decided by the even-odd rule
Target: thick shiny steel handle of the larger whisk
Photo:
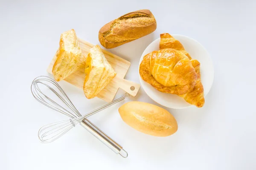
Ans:
{"type": "Polygon", "coordinates": [[[88,130],[93,136],[99,139],[102,143],[104,143],[107,147],[113,150],[114,153],[120,154],[122,157],[126,158],[128,153],[122,149],[118,143],[116,143],[113,139],[111,139],[108,135],[106,135],[102,130],[99,129],[96,125],[90,122],[88,119],[83,119],[80,123],[82,127],[88,130]]]}

